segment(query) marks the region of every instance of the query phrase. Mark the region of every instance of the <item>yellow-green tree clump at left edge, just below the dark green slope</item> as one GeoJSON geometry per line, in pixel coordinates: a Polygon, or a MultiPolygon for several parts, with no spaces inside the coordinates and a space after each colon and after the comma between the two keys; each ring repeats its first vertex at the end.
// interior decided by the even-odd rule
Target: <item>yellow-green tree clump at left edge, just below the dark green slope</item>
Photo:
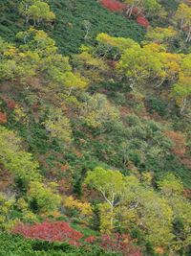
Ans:
{"type": "Polygon", "coordinates": [[[69,96],[74,89],[88,86],[88,80],[74,72],[69,58],[57,53],[55,42],[47,33],[31,28],[16,37],[21,42],[17,49],[2,46],[0,79],[19,81],[22,85],[36,86],[41,90],[51,87],[69,96]]]}

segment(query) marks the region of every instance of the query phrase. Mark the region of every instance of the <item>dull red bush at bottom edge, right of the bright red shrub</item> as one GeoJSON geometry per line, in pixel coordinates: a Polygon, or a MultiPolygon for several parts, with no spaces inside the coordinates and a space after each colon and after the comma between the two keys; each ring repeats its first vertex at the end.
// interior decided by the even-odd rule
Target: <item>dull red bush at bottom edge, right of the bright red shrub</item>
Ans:
{"type": "Polygon", "coordinates": [[[134,246],[128,235],[115,234],[114,237],[104,235],[100,245],[107,251],[121,252],[124,256],[141,256],[141,251],[134,246]]]}

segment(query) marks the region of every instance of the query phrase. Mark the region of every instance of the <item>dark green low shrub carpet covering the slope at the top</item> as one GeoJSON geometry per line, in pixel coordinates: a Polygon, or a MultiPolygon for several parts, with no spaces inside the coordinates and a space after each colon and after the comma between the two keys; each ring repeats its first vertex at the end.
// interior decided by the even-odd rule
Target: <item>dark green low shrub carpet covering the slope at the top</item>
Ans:
{"type": "MultiPolygon", "coordinates": [[[[51,33],[56,45],[65,55],[77,53],[81,44],[87,41],[84,38],[86,35],[85,20],[91,23],[88,42],[93,45],[96,35],[100,32],[114,36],[129,36],[138,41],[143,39],[144,29],[136,22],[103,9],[95,0],[90,0],[88,3],[87,5],[86,0],[49,1],[51,11],[55,14],[55,21],[53,26],[46,26],[46,31],[51,33]]],[[[11,41],[14,41],[16,33],[23,29],[23,21],[19,20],[19,4],[18,0],[14,3],[10,0],[0,3],[0,9],[5,13],[1,16],[0,23],[3,29],[0,30],[0,35],[11,41]]],[[[42,12],[40,14],[42,15],[42,12]]],[[[41,25],[40,28],[43,29],[43,26],[41,25]]]]}

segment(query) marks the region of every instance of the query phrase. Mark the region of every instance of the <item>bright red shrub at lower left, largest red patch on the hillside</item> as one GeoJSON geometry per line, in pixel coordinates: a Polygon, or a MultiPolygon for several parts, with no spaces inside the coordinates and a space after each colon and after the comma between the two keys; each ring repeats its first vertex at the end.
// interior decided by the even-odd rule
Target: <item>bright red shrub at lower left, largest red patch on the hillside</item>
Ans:
{"type": "Polygon", "coordinates": [[[34,225],[19,224],[13,228],[12,233],[49,242],[68,242],[76,246],[80,245],[78,241],[83,237],[80,232],[64,221],[45,221],[34,225]]]}

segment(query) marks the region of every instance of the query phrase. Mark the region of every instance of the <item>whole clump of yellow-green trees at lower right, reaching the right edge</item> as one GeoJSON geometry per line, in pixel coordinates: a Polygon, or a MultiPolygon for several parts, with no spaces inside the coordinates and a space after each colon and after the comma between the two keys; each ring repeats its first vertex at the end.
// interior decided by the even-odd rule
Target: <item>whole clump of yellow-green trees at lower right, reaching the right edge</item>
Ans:
{"type": "Polygon", "coordinates": [[[159,181],[160,191],[152,188],[151,176],[123,176],[117,171],[96,168],[89,172],[85,182],[100,195],[99,204],[101,232],[125,231],[138,227],[145,242],[169,253],[189,246],[190,203],[182,196],[182,184],[174,175],[159,181]],[[115,180],[115,182],[114,182],[115,180]],[[180,202],[181,201],[181,202],[180,202]],[[186,207],[187,204],[187,207],[186,207]],[[181,223],[179,227],[177,223],[181,223]],[[175,231],[179,229],[179,231],[175,231]],[[183,238],[181,234],[184,234],[183,238]]]}

